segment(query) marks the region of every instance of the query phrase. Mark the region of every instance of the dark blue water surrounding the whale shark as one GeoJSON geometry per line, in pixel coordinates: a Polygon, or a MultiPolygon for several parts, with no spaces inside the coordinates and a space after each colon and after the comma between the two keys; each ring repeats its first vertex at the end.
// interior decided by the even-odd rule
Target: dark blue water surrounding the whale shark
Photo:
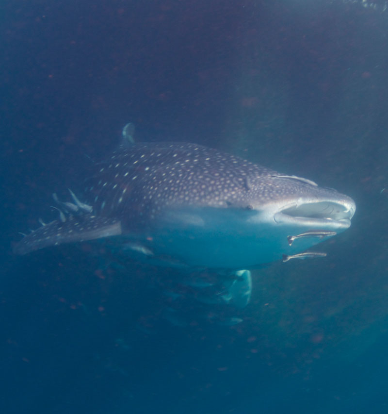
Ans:
{"type": "Polygon", "coordinates": [[[359,3],[1,3],[2,413],[387,412],[388,11],[359,3]],[[335,187],[352,227],[232,327],[163,321],[160,270],[15,257],[127,122],[335,187]]]}

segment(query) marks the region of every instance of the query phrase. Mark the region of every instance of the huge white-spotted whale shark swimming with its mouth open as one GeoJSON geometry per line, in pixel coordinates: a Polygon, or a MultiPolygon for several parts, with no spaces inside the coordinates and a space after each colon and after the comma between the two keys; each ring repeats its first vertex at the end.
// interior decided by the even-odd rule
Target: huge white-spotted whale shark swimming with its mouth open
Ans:
{"type": "Polygon", "coordinates": [[[197,144],[123,135],[78,195],[85,202],[71,191],[74,203],[55,196],[60,219],[25,236],[16,253],[99,239],[166,265],[251,269],[350,226],[355,202],[335,190],[197,144]]]}

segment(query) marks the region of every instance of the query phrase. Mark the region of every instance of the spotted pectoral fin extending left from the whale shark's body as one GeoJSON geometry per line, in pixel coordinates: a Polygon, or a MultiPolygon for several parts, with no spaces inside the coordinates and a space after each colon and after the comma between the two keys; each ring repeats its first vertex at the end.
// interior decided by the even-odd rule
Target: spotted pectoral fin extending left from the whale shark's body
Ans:
{"type": "Polygon", "coordinates": [[[120,220],[91,214],[70,216],[65,222],[54,220],[28,234],[15,245],[14,252],[26,254],[49,246],[100,239],[121,233],[120,220]]]}

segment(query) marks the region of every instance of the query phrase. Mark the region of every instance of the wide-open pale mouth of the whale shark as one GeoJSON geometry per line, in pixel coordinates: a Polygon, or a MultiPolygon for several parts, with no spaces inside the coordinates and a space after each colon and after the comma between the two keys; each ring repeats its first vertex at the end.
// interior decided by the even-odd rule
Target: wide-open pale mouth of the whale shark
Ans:
{"type": "Polygon", "coordinates": [[[355,203],[352,201],[351,199],[343,202],[323,200],[288,204],[274,215],[274,219],[277,223],[326,224],[328,227],[348,228],[356,210],[355,203]]]}

